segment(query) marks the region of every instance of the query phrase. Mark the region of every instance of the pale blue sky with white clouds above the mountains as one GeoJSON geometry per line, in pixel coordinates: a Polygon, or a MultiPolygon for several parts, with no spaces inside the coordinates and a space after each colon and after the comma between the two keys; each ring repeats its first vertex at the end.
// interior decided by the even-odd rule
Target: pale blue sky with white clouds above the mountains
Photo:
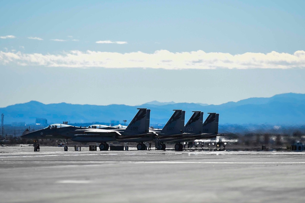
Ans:
{"type": "Polygon", "coordinates": [[[0,107],[305,93],[304,1],[0,4],[0,107]]]}

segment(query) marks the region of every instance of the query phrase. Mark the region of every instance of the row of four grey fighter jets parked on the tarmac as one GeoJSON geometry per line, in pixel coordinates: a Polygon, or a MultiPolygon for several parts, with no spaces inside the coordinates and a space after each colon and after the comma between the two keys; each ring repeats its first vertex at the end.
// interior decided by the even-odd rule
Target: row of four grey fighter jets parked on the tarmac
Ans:
{"type": "Polygon", "coordinates": [[[160,149],[165,143],[176,143],[175,150],[182,151],[181,142],[215,138],[218,135],[219,114],[208,113],[203,122],[203,112],[192,111],[193,115],[185,123],[185,111],[173,110],[174,114],[163,129],[150,129],[150,110],[138,108],[138,113],[126,128],[91,125],[88,128],[64,124],[52,124],[48,127],[21,136],[27,139],[70,139],[76,142],[96,142],[100,150],[108,150],[109,142],[136,142],[138,150],[145,150],[145,142],[160,141],[160,149]],[[90,127],[90,128],[89,128],[90,127]]]}

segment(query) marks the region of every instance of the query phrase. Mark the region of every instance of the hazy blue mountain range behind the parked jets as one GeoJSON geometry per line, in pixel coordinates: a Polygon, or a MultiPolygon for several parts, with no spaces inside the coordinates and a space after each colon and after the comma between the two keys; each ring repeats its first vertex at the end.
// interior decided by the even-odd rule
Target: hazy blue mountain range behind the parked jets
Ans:
{"type": "MultiPolygon", "coordinates": [[[[220,114],[220,124],[268,124],[268,125],[304,125],[305,94],[285,93],[270,98],[249,98],[238,102],[221,105],[203,103],[174,103],[152,101],[138,106],[111,104],[107,106],[80,105],[68,103],[43,104],[30,101],[0,108],[4,123],[35,123],[36,118],[46,118],[48,123],[90,123],[117,120],[128,124],[137,112],[136,108],[151,109],[150,123],[165,124],[173,113],[173,109],[186,111],[185,120],[192,111],[203,111],[204,119],[208,112],[220,114]]],[[[185,121],[185,122],[186,122],[185,121]]]]}

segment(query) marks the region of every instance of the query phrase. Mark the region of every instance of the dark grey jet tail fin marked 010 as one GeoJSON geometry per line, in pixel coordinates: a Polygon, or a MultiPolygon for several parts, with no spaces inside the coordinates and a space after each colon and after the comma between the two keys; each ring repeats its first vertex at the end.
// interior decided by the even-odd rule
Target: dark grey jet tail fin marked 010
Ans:
{"type": "Polygon", "coordinates": [[[149,117],[150,110],[147,114],[146,108],[138,108],[138,113],[129,123],[125,131],[129,131],[136,134],[147,133],[149,132],[149,117]],[[148,119],[148,120],[147,120],[148,119]],[[147,125],[148,122],[148,125],[147,125]]]}

